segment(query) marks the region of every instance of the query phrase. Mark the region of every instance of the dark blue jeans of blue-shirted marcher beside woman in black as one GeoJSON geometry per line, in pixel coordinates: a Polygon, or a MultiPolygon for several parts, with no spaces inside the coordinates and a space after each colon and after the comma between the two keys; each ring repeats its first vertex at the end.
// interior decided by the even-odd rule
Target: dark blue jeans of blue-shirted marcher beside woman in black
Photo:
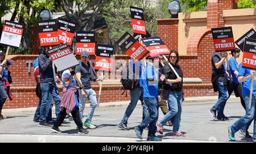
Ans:
{"type": "Polygon", "coordinates": [[[158,99],[155,97],[144,97],[148,109],[148,116],[139,124],[139,130],[143,131],[148,125],[148,136],[155,136],[156,122],[158,121],[158,99]]]}

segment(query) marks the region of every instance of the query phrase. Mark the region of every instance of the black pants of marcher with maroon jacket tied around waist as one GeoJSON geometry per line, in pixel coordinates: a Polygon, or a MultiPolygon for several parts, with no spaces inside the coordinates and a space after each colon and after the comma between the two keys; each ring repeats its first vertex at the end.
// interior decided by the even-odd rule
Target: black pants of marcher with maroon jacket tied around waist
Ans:
{"type": "MultiPolygon", "coordinates": [[[[71,114],[72,114],[72,117],[73,117],[73,119],[74,119],[74,121],[76,123],[76,126],[79,127],[79,129],[81,129],[82,128],[82,121],[81,121],[81,119],[79,117],[79,107],[77,107],[76,110],[73,110],[71,112],[71,114]]],[[[57,117],[56,122],[54,123],[53,126],[54,127],[61,126],[61,123],[63,123],[66,115],[67,115],[66,109],[61,110],[60,111],[60,115],[59,115],[59,117],[57,117]]]]}

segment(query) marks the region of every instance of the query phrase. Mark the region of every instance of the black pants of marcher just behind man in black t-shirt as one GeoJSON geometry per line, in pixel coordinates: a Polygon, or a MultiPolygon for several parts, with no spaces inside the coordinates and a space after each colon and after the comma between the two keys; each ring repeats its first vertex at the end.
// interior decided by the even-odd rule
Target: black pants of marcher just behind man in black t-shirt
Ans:
{"type": "MultiPolygon", "coordinates": [[[[236,97],[240,97],[243,109],[246,110],[245,101],[243,100],[243,97],[242,97],[242,86],[241,86],[241,84],[236,84],[236,83],[233,83],[232,81],[229,81],[228,85],[227,85],[227,88],[228,88],[229,97],[232,94],[232,92],[234,91],[236,97]]],[[[224,103],[224,108],[225,108],[225,105],[226,105],[226,101],[224,103]]]]}

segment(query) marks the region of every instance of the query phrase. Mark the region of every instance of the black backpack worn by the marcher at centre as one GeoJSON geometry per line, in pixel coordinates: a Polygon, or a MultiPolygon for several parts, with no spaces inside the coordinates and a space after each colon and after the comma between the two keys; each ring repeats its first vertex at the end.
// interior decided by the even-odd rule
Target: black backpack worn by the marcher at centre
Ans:
{"type": "MultiPolygon", "coordinates": [[[[133,73],[133,71],[129,73],[129,66],[126,66],[122,70],[122,78],[120,82],[123,85],[122,89],[125,89],[126,91],[135,89],[138,86],[139,80],[135,79],[135,73],[133,73]]],[[[125,93],[125,91],[123,91],[123,93],[125,93]]]]}

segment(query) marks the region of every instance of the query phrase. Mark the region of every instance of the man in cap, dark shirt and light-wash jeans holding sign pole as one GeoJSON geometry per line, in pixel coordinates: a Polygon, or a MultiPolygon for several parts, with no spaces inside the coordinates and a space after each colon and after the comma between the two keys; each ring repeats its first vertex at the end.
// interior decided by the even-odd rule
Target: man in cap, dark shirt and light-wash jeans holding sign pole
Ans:
{"type": "Polygon", "coordinates": [[[96,99],[96,92],[92,89],[92,86],[90,85],[90,80],[96,80],[101,81],[103,80],[103,76],[100,78],[97,78],[97,74],[92,66],[92,63],[89,61],[89,54],[86,51],[83,51],[81,54],[82,62],[79,62],[79,65],[76,66],[76,76],[77,79],[79,79],[80,83],[82,83],[82,87],[85,88],[85,91],[87,92],[87,95],[84,91],[79,91],[79,112],[80,112],[80,118],[82,121],[82,117],[84,117],[84,108],[85,108],[85,102],[86,99],[90,101],[90,107],[88,110],[87,118],[84,122],[84,126],[88,127],[89,129],[96,129],[96,126],[92,124],[92,118],[94,110],[97,107],[97,99],[96,99]]]}

